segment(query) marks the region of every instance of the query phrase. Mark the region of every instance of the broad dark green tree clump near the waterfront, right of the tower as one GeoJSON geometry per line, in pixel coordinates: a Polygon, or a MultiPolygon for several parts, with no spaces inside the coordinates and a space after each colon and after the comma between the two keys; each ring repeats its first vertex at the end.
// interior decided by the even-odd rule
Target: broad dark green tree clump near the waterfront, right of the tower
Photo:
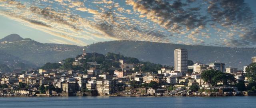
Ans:
{"type": "Polygon", "coordinates": [[[205,82],[209,82],[213,86],[217,86],[218,82],[222,82],[223,85],[227,85],[227,82],[234,82],[235,78],[232,74],[224,73],[218,70],[204,70],[202,72],[202,79],[205,82]]]}

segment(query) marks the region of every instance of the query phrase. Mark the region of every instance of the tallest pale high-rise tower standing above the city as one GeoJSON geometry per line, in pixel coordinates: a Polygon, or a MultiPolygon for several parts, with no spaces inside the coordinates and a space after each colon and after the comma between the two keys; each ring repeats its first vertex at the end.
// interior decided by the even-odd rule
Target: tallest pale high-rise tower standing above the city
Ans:
{"type": "Polygon", "coordinates": [[[174,70],[180,71],[183,75],[188,72],[188,50],[181,48],[174,50],[174,70]]]}

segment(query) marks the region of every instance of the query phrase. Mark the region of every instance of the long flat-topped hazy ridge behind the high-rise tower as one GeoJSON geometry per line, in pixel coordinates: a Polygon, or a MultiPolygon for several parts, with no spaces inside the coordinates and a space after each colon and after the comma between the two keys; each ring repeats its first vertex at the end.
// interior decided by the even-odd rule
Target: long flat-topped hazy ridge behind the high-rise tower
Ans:
{"type": "Polygon", "coordinates": [[[188,60],[209,64],[223,62],[226,67],[242,69],[251,63],[251,57],[256,56],[256,48],[229,48],[202,45],[182,45],[143,41],[110,41],[98,42],[86,46],[91,52],[100,54],[107,52],[121,53],[124,56],[136,57],[142,61],[149,61],[164,65],[174,65],[174,49],[185,48],[188,50],[188,60]]]}

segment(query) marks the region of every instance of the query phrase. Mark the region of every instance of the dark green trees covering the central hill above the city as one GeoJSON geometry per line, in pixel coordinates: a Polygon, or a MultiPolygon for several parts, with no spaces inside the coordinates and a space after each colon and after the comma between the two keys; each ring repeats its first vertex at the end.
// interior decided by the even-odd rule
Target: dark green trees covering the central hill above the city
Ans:
{"type": "MultiPolygon", "coordinates": [[[[82,57],[82,55],[76,56],[76,58],[82,57]]],[[[80,70],[86,73],[86,70],[90,68],[88,66],[87,62],[94,62],[96,61],[98,64],[100,64],[99,68],[100,70],[103,70],[103,72],[110,72],[108,68],[120,68],[120,59],[124,59],[126,63],[128,64],[138,64],[135,66],[136,72],[142,71],[142,72],[157,72],[161,69],[162,65],[160,64],[154,64],[151,62],[140,62],[137,58],[131,58],[131,57],[125,57],[122,54],[114,54],[108,52],[106,55],[103,54],[90,54],[87,53],[85,59],[79,60],[80,63],[82,63],[81,66],[73,66],[73,62],[75,61],[75,58],[67,58],[64,61],[65,63],[63,66],[61,66],[58,63],[46,63],[42,68],[44,69],[53,69],[53,68],[61,68],[65,70],[80,70]]]]}

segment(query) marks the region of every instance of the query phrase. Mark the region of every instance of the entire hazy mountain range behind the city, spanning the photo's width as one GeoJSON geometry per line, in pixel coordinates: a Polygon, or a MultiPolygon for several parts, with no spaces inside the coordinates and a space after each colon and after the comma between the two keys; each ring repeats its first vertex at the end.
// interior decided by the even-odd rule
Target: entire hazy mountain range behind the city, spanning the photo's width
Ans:
{"type": "MultiPolygon", "coordinates": [[[[76,45],[42,44],[31,39],[21,38],[18,34],[6,36],[0,42],[2,43],[0,44],[0,52],[31,66],[42,66],[46,62],[59,62],[68,57],[75,57],[82,54],[84,48],[76,45]]],[[[250,64],[251,57],[256,56],[256,48],[192,46],[128,40],[98,42],[85,46],[85,48],[90,53],[92,51],[100,54],[106,54],[107,52],[121,53],[124,56],[135,57],[141,61],[163,65],[173,65],[174,49],[185,48],[188,50],[188,60],[204,64],[223,62],[226,63],[226,67],[237,67],[239,69],[250,64]]],[[[0,56],[4,57],[4,54],[0,54],[0,56]]],[[[5,64],[5,62],[6,60],[0,59],[0,63],[5,64]]]]}

